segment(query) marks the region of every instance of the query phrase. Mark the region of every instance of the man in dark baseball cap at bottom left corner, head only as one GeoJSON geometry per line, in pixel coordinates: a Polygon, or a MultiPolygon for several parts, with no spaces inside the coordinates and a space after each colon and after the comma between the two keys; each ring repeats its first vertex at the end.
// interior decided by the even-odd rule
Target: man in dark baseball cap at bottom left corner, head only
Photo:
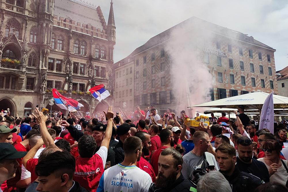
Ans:
{"type": "Polygon", "coordinates": [[[6,180],[15,177],[15,172],[19,166],[16,159],[24,157],[26,153],[24,151],[18,152],[9,143],[0,143],[0,185],[6,180]]]}

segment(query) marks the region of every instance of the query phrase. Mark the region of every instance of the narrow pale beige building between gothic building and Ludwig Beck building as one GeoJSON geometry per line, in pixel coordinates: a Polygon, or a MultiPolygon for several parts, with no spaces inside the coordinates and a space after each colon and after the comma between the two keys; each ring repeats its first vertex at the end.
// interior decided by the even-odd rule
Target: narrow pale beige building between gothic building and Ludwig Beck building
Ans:
{"type": "Polygon", "coordinates": [[[126,57],[113,65],[115,70],[115,108],[132,111],[134,108],[134,58],[126,57]],[[125,105],[126,103],[126,105],[125,105]]]}

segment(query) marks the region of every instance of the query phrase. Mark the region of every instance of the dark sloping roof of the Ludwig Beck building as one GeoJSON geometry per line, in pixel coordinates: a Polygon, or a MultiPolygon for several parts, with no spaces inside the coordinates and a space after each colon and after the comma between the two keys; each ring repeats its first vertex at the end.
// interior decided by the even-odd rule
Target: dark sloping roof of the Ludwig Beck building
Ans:
{"type": "MultiPolygon", "coordinates": [[[[204,30],[208,29],[208,30],[215,32],[217,34],[222,34],[222,35],[225,35],[228,37],[231,36],[231,37],[234,37],[234,38],[237,38],[237,39],[249,42],[249,43],[263,46],[263,47],[268,48],[268,49],[273,49],[272,47],[255,40],[252,36],[248,36],[247,34],[243,34],[239,31],[228,29],[226,27],[222,27],[222,26],[216,25],[214,23],[211,23],[211,22],[208,22],[208,21],[205,21],[205,20],[202,20],[200,18],[193,16],[193,17],[167,29],[166,31],[159,33],[158,35],[151,37],[144,45],[136,48],[130,55],[135,55],[139,52],[142,52],[143,50],[146,50],[146,49],[151,48],[151,47],[153,47],[153,46],[155,46],[161,42],[164,42],[165,40],[170,38],[170,34],[173,30],[175,30],[177,28],[181,30],[181,28],[187,27],[187,26],[188,27],[189,26],[197,26],[197,28],[202,28],[204,30]]],[[[274,51],[276,51],[276,50],[274,50],[274,51]]]]}

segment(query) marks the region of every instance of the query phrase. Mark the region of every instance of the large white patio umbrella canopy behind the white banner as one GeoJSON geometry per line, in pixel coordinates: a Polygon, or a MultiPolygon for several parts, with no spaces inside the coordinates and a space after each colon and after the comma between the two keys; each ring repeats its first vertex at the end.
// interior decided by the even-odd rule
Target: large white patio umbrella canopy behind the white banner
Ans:
{"type": "MultiPolygon", "coordinates": [[[[237,95],[225,99],[219,99],[206,103],[201,103],[189,107],[215,107],[215,108],[238,108],[239,105],[244,105],[246,109],[261,110],[263,103],[269,93],[256,91],[244,95],[237,95]]],[[[273,95],[274,109],[288,108],[288,97],[273,95]]]]}

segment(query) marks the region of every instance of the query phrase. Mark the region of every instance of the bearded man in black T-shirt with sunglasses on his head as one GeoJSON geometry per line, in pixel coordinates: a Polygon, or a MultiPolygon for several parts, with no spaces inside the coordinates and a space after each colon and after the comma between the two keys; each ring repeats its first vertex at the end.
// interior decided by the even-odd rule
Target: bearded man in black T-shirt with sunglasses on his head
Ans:
{"type": "Polygon", "coordinates": [[[237,167],[240,171],[259,177],[264,182],[269,182],[269,172],[264,163],[252,158],[252,141],[247,137],[240,137],[237,140],[238,154],[237,167]]]}

